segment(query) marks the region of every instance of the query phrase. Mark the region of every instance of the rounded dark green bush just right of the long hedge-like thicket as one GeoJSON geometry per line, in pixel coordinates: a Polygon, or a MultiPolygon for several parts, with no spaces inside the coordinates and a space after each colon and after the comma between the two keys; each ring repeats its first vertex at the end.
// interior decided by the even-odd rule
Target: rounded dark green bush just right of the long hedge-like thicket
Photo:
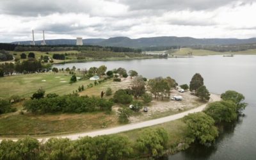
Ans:
{"type": "Polygon", "coordinates": [[[129,104],[132,102],[132,96],[127,94],[125,90],[120,89],[115,92],[113,100],[121,104],[129,104]]]}

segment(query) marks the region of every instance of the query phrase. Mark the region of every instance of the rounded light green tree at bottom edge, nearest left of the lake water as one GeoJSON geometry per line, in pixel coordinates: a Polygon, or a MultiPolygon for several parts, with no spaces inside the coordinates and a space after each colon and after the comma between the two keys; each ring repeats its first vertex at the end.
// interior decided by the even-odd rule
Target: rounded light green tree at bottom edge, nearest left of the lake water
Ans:
{"type": "Polygon", "coordinates": [[[147,129],[136,140],[138,150],[153,157],[163,156],[168,142],[168,133],[163,128],[147,129]]]}

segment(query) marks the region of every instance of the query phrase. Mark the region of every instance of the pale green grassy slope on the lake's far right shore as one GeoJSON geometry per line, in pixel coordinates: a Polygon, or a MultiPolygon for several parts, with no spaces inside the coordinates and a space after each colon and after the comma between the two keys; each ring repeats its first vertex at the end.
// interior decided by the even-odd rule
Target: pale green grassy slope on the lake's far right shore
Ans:
{"type": "Polygon", "coordinates": [[[191,49],[191,48],[181,48],[179,51],[170,52],[170,55],[174,56],[188,56],[188,52],[192,52],[193,56],[207,56],[207,55],[217,55],[217,54],[256,54],[256,49],[248,49],[246,51],[239,52],[214,52],[204,49],[191,49]]]}

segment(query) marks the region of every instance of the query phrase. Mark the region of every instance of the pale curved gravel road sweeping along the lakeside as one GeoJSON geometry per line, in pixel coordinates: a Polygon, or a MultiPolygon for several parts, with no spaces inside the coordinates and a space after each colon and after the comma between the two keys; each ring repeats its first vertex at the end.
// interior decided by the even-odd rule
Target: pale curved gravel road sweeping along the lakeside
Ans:
{"type": "MultiPolygon", "coordinates": [[[[220,100],[220,95],[216,95],[216,94],[212,94],[211,93],[211,99],[209,102],[214,102],[214,101],[218,101],[220,100]]],[[[170,122],[172,120],[177,120],[179,118],[182,118],[186,115],[188,115],[189,113],[196,113],[196,112],[200,112],[202,111],[207,104],[203,104],[202,106],[199,106],[198,108],[195,109],[190,109],[188,111],[184,111],[182,113],[178,113],[176,115],[170,115],[170,116],[164,116],[163,118],[157,118],[154,120],[147,120],[144,122],[138,122],[135,124],[127,124],[127,125],[122,125],[120,127],[113,127],[113,128],[109,128],[109,129],[102,129],[99,131],[92,131],[92,132],[82,132],[82,133],[76,133],[76,134],[70,134],[70,135],[63,135],[63,136],[51,136],[51,137],[47,137],[47,138],[38,138],[39,141],[47,141],[49,140],[49,138],[69,138],[70,140],[77,140],[80,137],[83,136],[100,136],[100,135],[104,135],[104,134],[115,134],[118,132],[124,132],[124,131],[130,131],[133,129],[140,129],[143,127],[150,127],[152,125],[157,125],[157,124],[163,124],[165,122],[170,122]]],[[[16,141],[17,139],[12,139],[13,141],[16,141]]],[[[0,140],[1,141],[1,140],[0,140]]]]}

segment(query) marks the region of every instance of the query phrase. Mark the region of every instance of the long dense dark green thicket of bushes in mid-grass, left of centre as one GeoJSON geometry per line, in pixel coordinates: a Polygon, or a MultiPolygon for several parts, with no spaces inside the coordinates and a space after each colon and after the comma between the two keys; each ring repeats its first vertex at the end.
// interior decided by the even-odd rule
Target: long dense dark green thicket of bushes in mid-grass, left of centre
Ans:
{"type": "Polygon", "coordinates": [[[63,95],[44,99],[27,100],[24,109],[32,113],[84,113],[93,111],[111,111],[113,102],[99,97],[79,97],[63,95]]]}

